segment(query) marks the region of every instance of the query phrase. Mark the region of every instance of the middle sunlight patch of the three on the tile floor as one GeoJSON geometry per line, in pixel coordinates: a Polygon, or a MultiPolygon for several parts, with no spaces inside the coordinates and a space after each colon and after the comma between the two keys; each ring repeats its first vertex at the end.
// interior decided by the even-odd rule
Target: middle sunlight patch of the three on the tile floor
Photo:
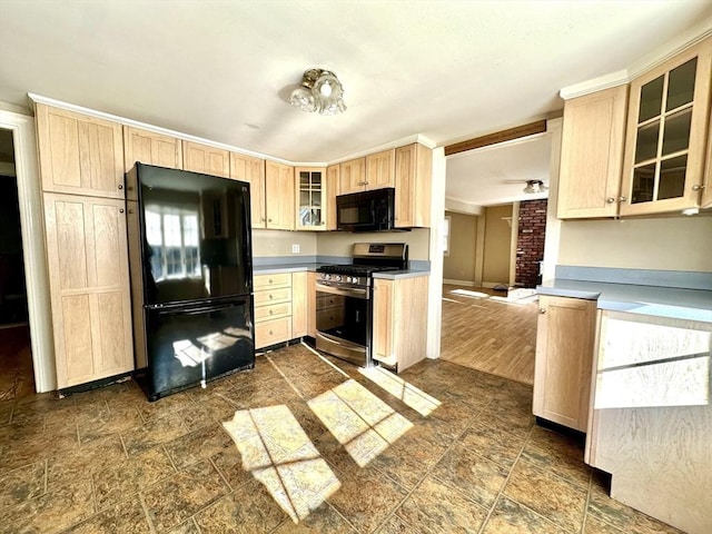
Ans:
{"type": "Polygon", "coordinates": [[[359,467],[413,428],[413,423],[353,378],[307,404],[359,467]]]}

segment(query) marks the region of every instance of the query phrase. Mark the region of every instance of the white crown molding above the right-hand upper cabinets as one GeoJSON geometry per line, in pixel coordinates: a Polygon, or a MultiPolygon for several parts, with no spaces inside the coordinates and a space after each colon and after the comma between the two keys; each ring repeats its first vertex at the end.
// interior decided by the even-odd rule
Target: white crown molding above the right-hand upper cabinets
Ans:
{"type": "Polygon", "coordinates": [[[570,100],[572,98],[583,97],[584,95],[630,83],[639,76],[660,67],[665,61],[674,58],[681,52],[684,52],[689,48],[694,47],[710,36],[712,36],[712,17],[698,22],[685,32],[675,37],[672,41],[659,47],[651,53],[629,66],[626,69],[600,76],[599,78],[593,78],[580,83],[566,86],[558,91],[558,95],[564,100],[570,100]]]}

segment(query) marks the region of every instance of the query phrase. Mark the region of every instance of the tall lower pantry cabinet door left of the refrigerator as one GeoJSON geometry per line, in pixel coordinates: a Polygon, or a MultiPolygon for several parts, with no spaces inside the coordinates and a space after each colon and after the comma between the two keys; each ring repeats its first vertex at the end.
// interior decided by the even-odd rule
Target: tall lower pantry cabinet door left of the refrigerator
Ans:
{"type": "Polygon", "coordinates": [[[123,200],[43,194],[58,388],[134,369],[123,200]]]}

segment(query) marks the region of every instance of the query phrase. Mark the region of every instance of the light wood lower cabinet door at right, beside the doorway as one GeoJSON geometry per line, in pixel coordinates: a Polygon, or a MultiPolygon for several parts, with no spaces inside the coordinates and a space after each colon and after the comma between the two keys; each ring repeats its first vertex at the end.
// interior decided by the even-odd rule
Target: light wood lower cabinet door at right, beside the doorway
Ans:
{"type": "Polygon", "coordinates": [[[540,296],[533,412],[586,432],[596,301],[540,296]]]}

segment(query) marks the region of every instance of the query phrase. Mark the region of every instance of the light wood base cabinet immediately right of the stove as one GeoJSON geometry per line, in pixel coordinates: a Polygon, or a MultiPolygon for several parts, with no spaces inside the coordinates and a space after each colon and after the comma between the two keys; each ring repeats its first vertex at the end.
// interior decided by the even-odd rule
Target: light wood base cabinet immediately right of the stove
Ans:
{"type": "Polygon", "coordinates": [[[398,373],[425,358],[428,276],[374,279],[373,357],[398,373]]]}

